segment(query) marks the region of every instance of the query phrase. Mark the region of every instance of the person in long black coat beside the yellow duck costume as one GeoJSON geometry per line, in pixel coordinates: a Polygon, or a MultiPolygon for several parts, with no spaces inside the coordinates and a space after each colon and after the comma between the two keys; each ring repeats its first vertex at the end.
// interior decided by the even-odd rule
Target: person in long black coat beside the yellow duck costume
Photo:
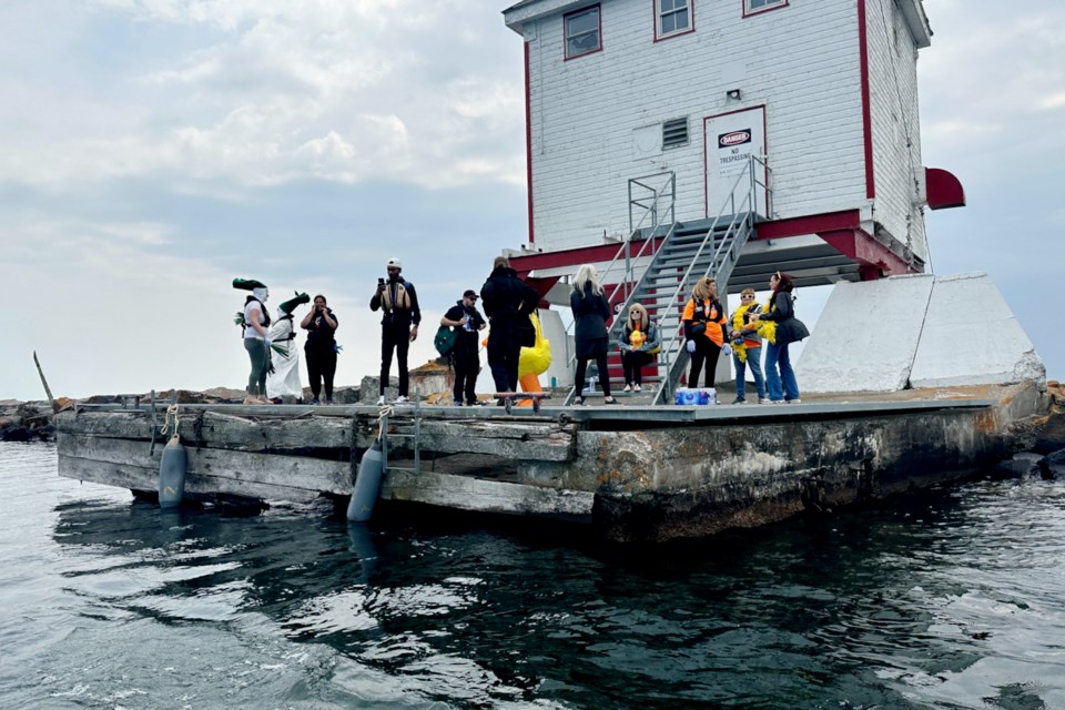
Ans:
{"type": "Polygon", "coordinates": [[[521,347],[536,343],[536,329],[529,316],[536,312],[540,294],[518,278],[506,256],[497,256],[491,264],[491,275],[480,288],[480,297],[491,324],[488,367],[496,392],[517,392],[521,347]]]}

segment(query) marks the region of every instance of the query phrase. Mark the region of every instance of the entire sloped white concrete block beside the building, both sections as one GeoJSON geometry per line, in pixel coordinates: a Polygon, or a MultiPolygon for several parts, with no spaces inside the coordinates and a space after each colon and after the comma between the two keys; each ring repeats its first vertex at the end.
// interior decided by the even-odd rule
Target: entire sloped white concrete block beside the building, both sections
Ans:
{"type": "Polygon", "coordinates": [[[1046,382],[1032,342],[983,273],[838,284],[795,376],[810,393],[1046,382]]]}

